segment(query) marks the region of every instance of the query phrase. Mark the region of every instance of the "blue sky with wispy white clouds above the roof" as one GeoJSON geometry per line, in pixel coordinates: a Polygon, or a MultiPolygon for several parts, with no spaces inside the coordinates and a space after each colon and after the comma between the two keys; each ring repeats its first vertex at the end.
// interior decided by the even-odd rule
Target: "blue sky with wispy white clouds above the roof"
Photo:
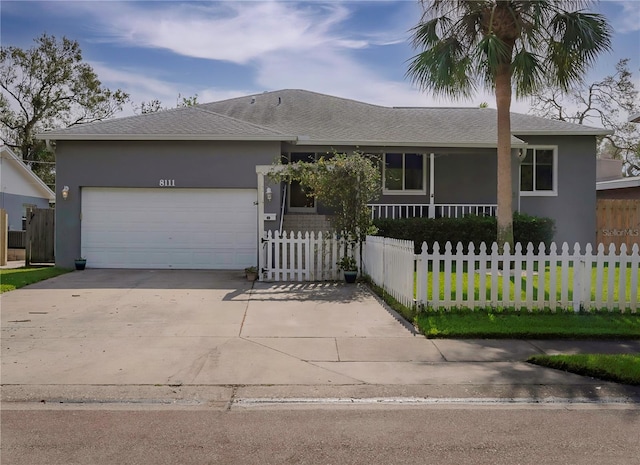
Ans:
{"type": "MultiPolygon", "coordinates": [[[[101,81],[138,104],[157,98],[175,106],[178,93],[203,103],[299,88],[389,106],[495,107],[491,94],[448,101],[405,78],[417,1],[2,0],[0,8],[3,46],[31,47],[44,32],[77,40],[101,81]]],[[[640,89],[640,0],[595,8],[613,26],[613,51],[587,79],[630,58],[640,89]]],[[[512,108],[526,113],[528,103],[512,108]]]]}

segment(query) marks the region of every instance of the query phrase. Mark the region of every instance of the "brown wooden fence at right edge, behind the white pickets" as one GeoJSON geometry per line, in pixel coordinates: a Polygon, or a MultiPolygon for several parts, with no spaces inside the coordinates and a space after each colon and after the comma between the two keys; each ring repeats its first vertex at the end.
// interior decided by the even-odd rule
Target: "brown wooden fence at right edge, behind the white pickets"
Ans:
{"type": "Polygon", "coordinates": [[[631,250],[640,244],[640,200],[599,199],[596,204],[596,244],[631,250]]]}

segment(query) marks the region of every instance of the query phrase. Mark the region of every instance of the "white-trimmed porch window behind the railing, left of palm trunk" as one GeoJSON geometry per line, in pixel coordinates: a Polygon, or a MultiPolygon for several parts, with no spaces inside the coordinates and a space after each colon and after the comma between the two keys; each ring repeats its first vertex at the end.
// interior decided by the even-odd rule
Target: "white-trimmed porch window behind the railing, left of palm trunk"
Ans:
{"type": "Polygon", "coordinates": [[[385,194],[425,194],[426,157],[423,153],[385,153],[383,165],[385,194]]]}

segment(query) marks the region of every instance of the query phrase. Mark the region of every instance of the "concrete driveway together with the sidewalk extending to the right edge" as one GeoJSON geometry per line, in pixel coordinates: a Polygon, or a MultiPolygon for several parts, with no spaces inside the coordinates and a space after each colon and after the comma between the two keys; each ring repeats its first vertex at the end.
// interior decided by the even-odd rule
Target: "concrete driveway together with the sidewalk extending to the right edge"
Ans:
{"type": "Polygon", "coordinates": [[[2,398],[640,398],[525,363],[640,341],[429,340],[361,285],[85,270],[5,293],[2,398]],[[177,396],[177,397],[176,397],[177,396]]]}

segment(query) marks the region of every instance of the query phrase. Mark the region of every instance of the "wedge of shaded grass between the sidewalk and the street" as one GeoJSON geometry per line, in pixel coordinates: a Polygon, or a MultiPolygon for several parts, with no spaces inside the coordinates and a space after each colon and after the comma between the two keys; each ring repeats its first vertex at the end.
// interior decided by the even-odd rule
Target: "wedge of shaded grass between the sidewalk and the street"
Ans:
{"type": "Polygon", "coordinates": [[[640,385],[640,354],[534,355],[528,361],[605,381],[640,385]]]}

